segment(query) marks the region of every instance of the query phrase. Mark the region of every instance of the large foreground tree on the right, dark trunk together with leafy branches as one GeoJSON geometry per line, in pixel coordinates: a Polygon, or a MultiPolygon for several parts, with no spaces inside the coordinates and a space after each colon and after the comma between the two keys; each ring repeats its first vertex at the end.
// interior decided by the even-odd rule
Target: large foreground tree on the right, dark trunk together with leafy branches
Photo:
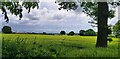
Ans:
{"type": "MultiPolygon", "coordinates": [[[[75,10],[77,9],[77,3],[80,3],[80,6],[83,8],[83,12],[93,18],[89,23],[97,24],[98,34],[96,47],[107,47],[107,36],[108,36],[108,18],[113,18],[115,15],[115,10],[110,10],[108,4],[113,5],[114,7],[120,5],[119,2],[63,2],[58,1],[61,9],[66,10],[75,10]]],[[[92,25],[94,26],[94,25],[92,25]]]]}

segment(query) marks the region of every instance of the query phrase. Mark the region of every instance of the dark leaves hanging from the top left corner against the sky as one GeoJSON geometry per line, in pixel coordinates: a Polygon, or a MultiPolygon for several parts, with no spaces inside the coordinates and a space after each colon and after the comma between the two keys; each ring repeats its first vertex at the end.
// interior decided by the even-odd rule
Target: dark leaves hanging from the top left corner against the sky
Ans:
{"type": "Polygon", "coordinates": [[[19,16],[19,20],[21,20],[21,18],[23,17],[22,11],[23,11],[23,7],[26,8],[28,10],[28,13],[30,12],[31,9],[34,9],[35,7],[39,7],[38,6],[38,2],[22,2],[22,5],[19,4],[19,2],[1,2],[2,6],[1,6],[1,11],[2,14],[4,15],[4,19],[6,20],[6,22],[9,22],[9,17],[8,17],[8,12],[7,10],[9,10],[13,15],[19,16]]]}

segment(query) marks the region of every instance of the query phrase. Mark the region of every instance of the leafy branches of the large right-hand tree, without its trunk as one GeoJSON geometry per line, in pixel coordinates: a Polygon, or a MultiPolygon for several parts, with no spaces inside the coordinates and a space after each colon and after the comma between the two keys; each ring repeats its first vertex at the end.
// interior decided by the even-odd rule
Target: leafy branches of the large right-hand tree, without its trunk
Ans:
{"type": "MultiPolygon", "coordinates": [[[[120,5],[120,2],[109,2],[109,5],[112,7],[109,8],[107,13],[108,18],[112,19],[115,17],[115,7],[120,5]]],[[[93,27],[96,27],[97,20],[98,20],[98,3],[97,2],[60,2],[58,1],[58,5],[60,5],[59,10],[66,9],[69,10],[76,10],[79,6],[82,7],[82,11],[87,14],[87,16],[93,18],[93,20],[89,21],[93,27]],[[79,4],[77,4],[79,3],[79,4]]]]}

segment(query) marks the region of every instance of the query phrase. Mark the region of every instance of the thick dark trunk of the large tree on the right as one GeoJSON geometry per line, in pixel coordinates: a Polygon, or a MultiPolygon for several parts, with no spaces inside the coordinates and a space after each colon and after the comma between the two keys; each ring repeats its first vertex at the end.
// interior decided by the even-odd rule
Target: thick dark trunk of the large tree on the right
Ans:
{"type": "Polygon", "coordinates": [[[107,47],[108,4],[98,2],[98,35],[96,47],[107,47]]]}

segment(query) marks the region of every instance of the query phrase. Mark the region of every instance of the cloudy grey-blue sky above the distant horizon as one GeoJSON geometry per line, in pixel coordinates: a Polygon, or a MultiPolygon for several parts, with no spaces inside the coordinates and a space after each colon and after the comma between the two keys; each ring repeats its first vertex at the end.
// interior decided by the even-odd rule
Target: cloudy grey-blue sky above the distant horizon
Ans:
{"type": "MultiPolygon", "coordinates": [[[[41,2],[39,9],[35,8],[31,10],[30,14],[24,9],[22,20],[19,20],[19,17],[12,15],[8,11],[9,23],[5,22],[0,11],[0,29],[6,25],[11,26],[15,32],[59,33],[61,30],[65,30],[66,32],[74,31],[78,33],[81,29],[87,30],[90,28],[97,31],[96,27],[93,28],[88,23],[92,18],[86,16],[81,8],[68,12],[66,10],[58,10],[58,8],[59,5],[54,3],[54,0],[41,2]]],[[[116,12],[116,17],[109,20],[108,24],[115,24],[117,20],[118,16],[116,12]]]]}

